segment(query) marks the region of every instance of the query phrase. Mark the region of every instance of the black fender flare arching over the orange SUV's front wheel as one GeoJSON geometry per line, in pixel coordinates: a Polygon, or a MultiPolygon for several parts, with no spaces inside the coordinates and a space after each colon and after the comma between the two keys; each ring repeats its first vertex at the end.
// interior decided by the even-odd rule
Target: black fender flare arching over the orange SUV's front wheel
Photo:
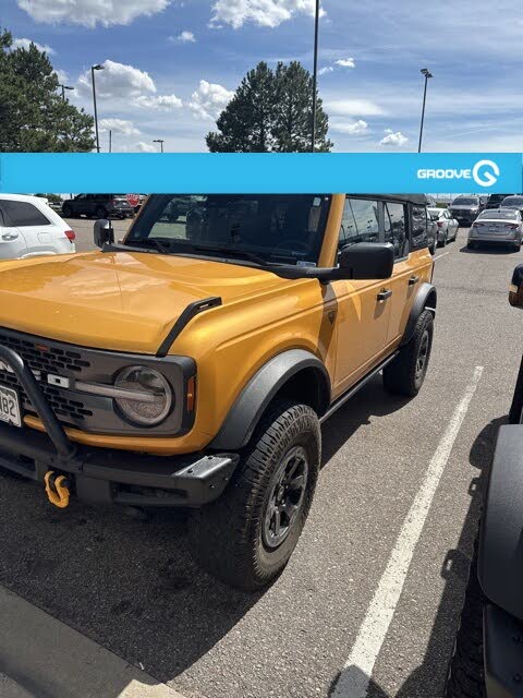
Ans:
{"type": "Polygon", "coordinates": [[[304,369],[315,369],[323,378],[325,411],[330,402],[330,377],[324,363],[305,349],[289,349],[265,363],[240,393],[209,448],[238,450],[253,435],[256,425],[283,385],[304,369]]]}

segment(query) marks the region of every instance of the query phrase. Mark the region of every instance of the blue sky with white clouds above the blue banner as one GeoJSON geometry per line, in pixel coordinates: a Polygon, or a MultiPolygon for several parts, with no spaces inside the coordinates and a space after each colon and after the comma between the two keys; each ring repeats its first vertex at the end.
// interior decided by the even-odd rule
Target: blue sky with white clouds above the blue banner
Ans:
{"type": "MultiPolygon", "coordinates": [[[[102,148],[203,151],[205,134],[259,60],[312,68],[314,0],[2,0],[0,25],[52,51],[92,111],[102,148]]],[[[415,151],[423,76],[425,151],[523,151],[523,7],[485,0],[325,0],[319,89],[336,151],[415,151]]]]}

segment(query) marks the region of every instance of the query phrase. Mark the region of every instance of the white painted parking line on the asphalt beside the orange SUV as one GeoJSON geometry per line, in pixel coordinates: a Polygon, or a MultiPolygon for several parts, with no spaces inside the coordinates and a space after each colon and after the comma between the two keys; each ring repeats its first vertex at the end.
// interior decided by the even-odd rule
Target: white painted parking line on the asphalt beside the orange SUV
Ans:
{"type": "Polygon", "coordinates": [[[365,698],[367,695],[374,665],[400,600],[416,543],[482,374],[483,366],[476,366],[436,448],[422,485],[403,521],[352,651],[335,686],[332,698],[365,698]]]}

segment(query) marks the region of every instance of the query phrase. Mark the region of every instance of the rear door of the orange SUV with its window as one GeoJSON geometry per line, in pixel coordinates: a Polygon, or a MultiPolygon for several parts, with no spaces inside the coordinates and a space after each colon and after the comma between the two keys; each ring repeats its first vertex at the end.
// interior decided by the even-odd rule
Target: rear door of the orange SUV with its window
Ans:
{"type": "Polygon", "coordinates": [[[394,245],[387,332],[387,347],[391,348],[403,336],[421,285],[430,280],[433,261],[427,248],[428,212],[425,206],[387,202],[384,204],[384,218],[385,240],[394,245]]]}

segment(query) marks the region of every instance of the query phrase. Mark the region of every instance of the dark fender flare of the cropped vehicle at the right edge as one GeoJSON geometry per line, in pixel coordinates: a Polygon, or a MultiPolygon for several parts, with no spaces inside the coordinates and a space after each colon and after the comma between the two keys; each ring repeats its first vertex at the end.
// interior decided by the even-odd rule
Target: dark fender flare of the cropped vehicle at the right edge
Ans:
{"type": "Polygon", "coordinates": [[[501,426],[479,532],[485,595],[523,619],[523,425],[501,426]]]}

